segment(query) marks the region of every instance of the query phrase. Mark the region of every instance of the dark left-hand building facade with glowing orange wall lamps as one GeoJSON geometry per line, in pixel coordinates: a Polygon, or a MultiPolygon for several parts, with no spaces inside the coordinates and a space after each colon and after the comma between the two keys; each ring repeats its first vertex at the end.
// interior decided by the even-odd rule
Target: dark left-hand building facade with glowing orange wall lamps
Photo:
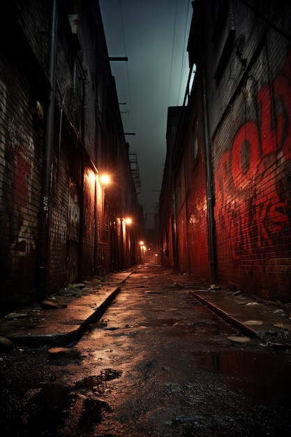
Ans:
{"type": "Polygon", "coordinates": [[[110,272],[135,264],[143,214],[98,1],[11,0],[2,12],[4,311],[99,265],[110,272]]]}

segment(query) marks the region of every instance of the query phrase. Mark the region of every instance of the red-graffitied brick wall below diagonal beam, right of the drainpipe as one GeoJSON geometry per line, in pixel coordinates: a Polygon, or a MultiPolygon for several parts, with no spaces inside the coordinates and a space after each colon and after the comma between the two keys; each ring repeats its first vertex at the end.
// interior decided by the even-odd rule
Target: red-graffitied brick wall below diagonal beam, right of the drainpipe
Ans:
{"type": "Polygon", "coordinates": [[[291,285],[290,52],[283,50],[285,64],[270,80],[267,55],[272,51],[276,54],[278,46],[262,47],[214,137],[218,265],[221,279],[286,302],[291,285]]]}

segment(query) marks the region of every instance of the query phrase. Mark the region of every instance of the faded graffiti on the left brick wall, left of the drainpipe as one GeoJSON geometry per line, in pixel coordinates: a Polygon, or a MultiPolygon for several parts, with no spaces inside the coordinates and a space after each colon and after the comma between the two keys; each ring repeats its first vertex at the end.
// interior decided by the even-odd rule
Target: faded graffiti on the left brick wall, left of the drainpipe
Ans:
{"type": "MultiPolygon", "coordinates": [[[[17,126],[13,118],[8,119],[7,125],[6,155],[13,156],[14,165],[10,249],[14,256],[26,257],[36,249],[33,235],[36,223],[27,220],[31,205],[34,144],[30,135],[24,132],[23,126],[17,126]]],[[[3,195],[6,196],[6,193],[3,195]]]]}

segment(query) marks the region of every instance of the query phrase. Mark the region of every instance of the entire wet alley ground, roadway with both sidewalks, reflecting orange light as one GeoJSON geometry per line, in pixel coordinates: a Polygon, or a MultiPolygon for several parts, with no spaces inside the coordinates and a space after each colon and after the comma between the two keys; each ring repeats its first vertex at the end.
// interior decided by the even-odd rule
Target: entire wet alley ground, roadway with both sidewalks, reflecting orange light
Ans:
{"type": "Polygon", "coordinates": [[[28,342],[0,354],[3,437],[291,435],[288,311],[159,265],[119,275],[3,318],[28,342]]]}

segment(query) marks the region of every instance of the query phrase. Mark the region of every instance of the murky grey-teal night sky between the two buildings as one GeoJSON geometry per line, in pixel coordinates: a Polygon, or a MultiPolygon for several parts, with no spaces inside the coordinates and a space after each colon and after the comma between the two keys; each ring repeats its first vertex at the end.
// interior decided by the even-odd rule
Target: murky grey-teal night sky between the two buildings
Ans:
{"type": "Polygon", "coordinates": [[[166,154],[167,108],[184,101],[191,0],[99,0],[119,108],[140,170],[138,195],[153,227],[166,154]],[[126,103],[125,105],[122,103],[126,103]]]}

